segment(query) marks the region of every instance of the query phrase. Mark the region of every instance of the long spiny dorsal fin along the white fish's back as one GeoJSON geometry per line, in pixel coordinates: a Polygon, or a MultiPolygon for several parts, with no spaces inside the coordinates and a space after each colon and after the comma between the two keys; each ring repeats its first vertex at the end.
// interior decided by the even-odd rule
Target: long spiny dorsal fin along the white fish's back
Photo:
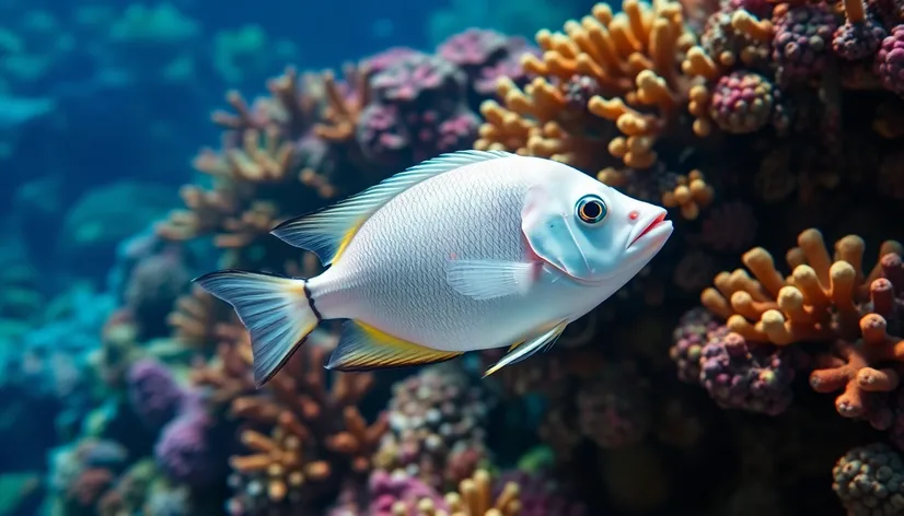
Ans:
{"type": "Polygon", "coordinates": [[[442,154],[333,206],[286,221],[270,233],[289,245],[315,253],[321,262],[328,266],[339,258],[361,224],[399,192],[425,179],[465,165],[513,155],[505,151],[459,151],[442,154]]]}

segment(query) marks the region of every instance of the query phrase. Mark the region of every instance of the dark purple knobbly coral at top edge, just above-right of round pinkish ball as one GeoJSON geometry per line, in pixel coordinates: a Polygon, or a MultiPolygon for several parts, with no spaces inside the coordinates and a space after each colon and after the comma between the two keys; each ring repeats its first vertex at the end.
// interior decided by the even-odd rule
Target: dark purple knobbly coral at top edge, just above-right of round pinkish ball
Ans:
{"type": "Polygon", "coordinates": [[[773,13],[773,59],[778,66],[779,84],[806,82],[825,68],[837,27],[826,4],[783,4],[773,13]]]}

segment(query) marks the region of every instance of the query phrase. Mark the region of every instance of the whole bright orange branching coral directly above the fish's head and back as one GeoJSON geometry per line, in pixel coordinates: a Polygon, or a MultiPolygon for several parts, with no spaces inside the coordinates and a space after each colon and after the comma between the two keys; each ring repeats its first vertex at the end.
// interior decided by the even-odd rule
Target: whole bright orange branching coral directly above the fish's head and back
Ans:
{"type": "Polygon", "coordinates": [[[679,64],[694,36],[677,2],[625,0],[622,8],[614,14],[599,3],[592,15],[566,23],[565,34],[541,31],[536,40],[543,57],[523,59],[525,70],[540,78],[523,92],[500,83],[506,107],[492,102],[482,107],[487,124],[475,148],[505,148],[600,169],[605,163],[594,154],[612,126],[582,116],[586,105],[622,132],[609,142],[612,156],[634,168],[656,163],[653,145],[676,122],[686,95],[679,64]],[[575,99],[582,101],[579,109],[575,99]]]}

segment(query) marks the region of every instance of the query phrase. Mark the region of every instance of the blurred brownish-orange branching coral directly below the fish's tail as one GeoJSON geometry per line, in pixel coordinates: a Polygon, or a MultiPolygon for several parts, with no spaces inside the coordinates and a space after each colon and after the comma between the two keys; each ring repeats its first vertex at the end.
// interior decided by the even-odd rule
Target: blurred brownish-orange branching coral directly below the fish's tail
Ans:
{"type": "Polygon", "coordinates": [[[260,390],[254,388],[246,339],[222,344],[218,366],[196,370],[195,382],[212,387],[211,398],[228,401],[229,414],[245,422],[241,441],[251,453],[230,459],[244,485],[237,494],[243,504],[301,507],[335,494],[347,471],[370,470],[387,422],[381,417],[368,425],[356,404],[373,378],[341,374],[331,385],[323,367],[327,352],[308,343],[260,390]]]}

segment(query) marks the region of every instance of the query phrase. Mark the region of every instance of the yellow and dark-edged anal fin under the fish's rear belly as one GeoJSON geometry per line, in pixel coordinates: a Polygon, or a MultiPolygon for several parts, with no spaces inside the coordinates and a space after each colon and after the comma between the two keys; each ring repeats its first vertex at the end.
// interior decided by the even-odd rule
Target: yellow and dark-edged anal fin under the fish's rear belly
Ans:
{"type": "Polygon", "coordinates": [[[445,362],[461,354],[460,351],[431,350],[361,321],[348,320],[343,325],[339,344],[326,368],[350,372],[406,367],[445,362]]]}

